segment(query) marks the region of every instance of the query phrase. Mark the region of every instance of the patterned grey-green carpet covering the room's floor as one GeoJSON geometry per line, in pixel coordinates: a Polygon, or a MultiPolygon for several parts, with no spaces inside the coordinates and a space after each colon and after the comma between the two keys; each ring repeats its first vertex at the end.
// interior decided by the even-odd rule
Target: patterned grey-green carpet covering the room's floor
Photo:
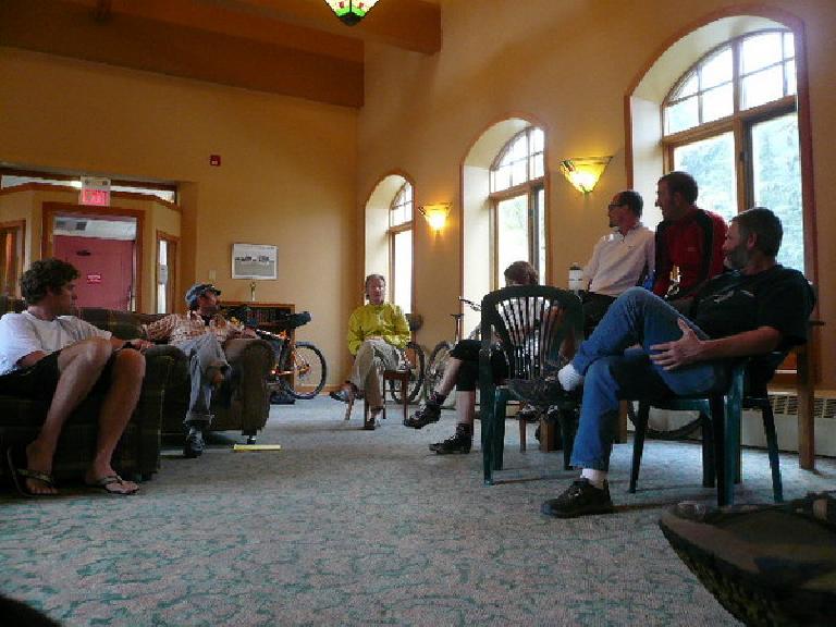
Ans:
{"type": "MultiPolygon", "coordinates": [[[[714,500],[698,445],[649,442],[635,495],[631,445],[616,446],[617,514],[558,521],[540,502],[575,472],[561,453],[519,453],[516,423],[489,488],[478,445],[427,450],[452,413],[414,431],[392,409],[368,432],[342,411],[324,397],[274,406],[259,441],[280,452],[233,453],[234,433],[199,459],[167,448],[132,497],[3,492],[0,592],[65,625],[736,624],[656,526],[678,501],[714,500]]],[[[834,460],[816,474],[782,462],[787,497],[833,489],[834,460]]],[[[738,502],[769,502],[765,454],[743,467],[738,502]]]]}

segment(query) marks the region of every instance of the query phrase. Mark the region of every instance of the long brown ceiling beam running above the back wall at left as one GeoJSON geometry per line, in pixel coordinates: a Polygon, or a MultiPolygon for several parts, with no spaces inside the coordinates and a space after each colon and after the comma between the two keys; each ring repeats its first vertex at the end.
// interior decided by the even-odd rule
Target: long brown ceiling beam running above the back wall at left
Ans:
{"type": "MultiPolygon", "coordinates": [[[[201,27],[194,27],[184,23],[186,14],[179,12],[185,11],[186,4],[204,3],[111,0],[102,16],[99,0],[2,0],[0,45],[333,104],[362,106],[361,41],[340,38],[334,46],[344,46],[347,52],[335,56],[298,45],[293,38],[296,35],[270,39],[268,30],[280,28],[273,24],[245,37],[246,20],[251,16],[242,22],[230,17],[222,21],[225,27],[211,29],[198,20],[201,27]],[[156,15],[127,12],[125,4],[176,5],[177,10],[164,13],[168,21],[161,21],[153,19],[156,15]],[[360,54],[355,46],[360,47],[360,54]]],[[[308,35],[310,41],[315,35],[303,38],[308,35]]]]}

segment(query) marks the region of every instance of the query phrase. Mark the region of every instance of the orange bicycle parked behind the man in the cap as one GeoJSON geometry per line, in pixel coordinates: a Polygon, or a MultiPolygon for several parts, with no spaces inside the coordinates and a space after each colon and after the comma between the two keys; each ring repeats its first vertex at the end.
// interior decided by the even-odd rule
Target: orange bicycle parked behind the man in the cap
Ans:
{"type": "Polygon", "coordinates": [[[232,314],[246,320],[245,324],[273,347],[275,364],[268,381],[271,402],[282,394],[306,401],[322,391],[328,377],[328,364],[322,351],[311,342],[292,342],[290,337],[290,331],[310,322],[308,311],[280,316],[272,322],[276,332],[257,329],[257,321],[253,320],[247,306],[233,309],[232,314]]]}

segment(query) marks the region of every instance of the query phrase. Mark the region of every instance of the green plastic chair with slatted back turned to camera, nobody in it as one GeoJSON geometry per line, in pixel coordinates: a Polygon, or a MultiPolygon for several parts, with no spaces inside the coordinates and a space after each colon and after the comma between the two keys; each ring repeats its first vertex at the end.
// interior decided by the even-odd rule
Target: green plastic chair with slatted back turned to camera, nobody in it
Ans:
{"type": "MultiPolygon", "coordinates": [[[[491,354],[501,352],[509,379],[538,379],[570,358],[583,339],[583,314],[577,295],[546,285],[515,285],[482,298],[482,345],[479,351],[479,393],[482,420],[484,482],[502,470],[507,388],[496,384],[491,354]],[[500,344],[495,344],[499,339],[500,344]]],[[[576,397],[558,404],[562,415],[574,417],[576,397]]],[[[562,419],[564,464],[574,441],[574,420],[562,419]]]]}

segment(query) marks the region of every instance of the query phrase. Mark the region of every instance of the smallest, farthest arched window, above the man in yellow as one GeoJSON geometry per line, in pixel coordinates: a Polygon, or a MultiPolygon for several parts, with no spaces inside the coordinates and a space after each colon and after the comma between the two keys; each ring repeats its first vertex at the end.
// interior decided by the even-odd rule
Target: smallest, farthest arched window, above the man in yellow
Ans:
{"type": "Polygon", "coordinates": [[[413,186],[404,182],[389,207],[390,298],[413,310],[413,186]]]}

